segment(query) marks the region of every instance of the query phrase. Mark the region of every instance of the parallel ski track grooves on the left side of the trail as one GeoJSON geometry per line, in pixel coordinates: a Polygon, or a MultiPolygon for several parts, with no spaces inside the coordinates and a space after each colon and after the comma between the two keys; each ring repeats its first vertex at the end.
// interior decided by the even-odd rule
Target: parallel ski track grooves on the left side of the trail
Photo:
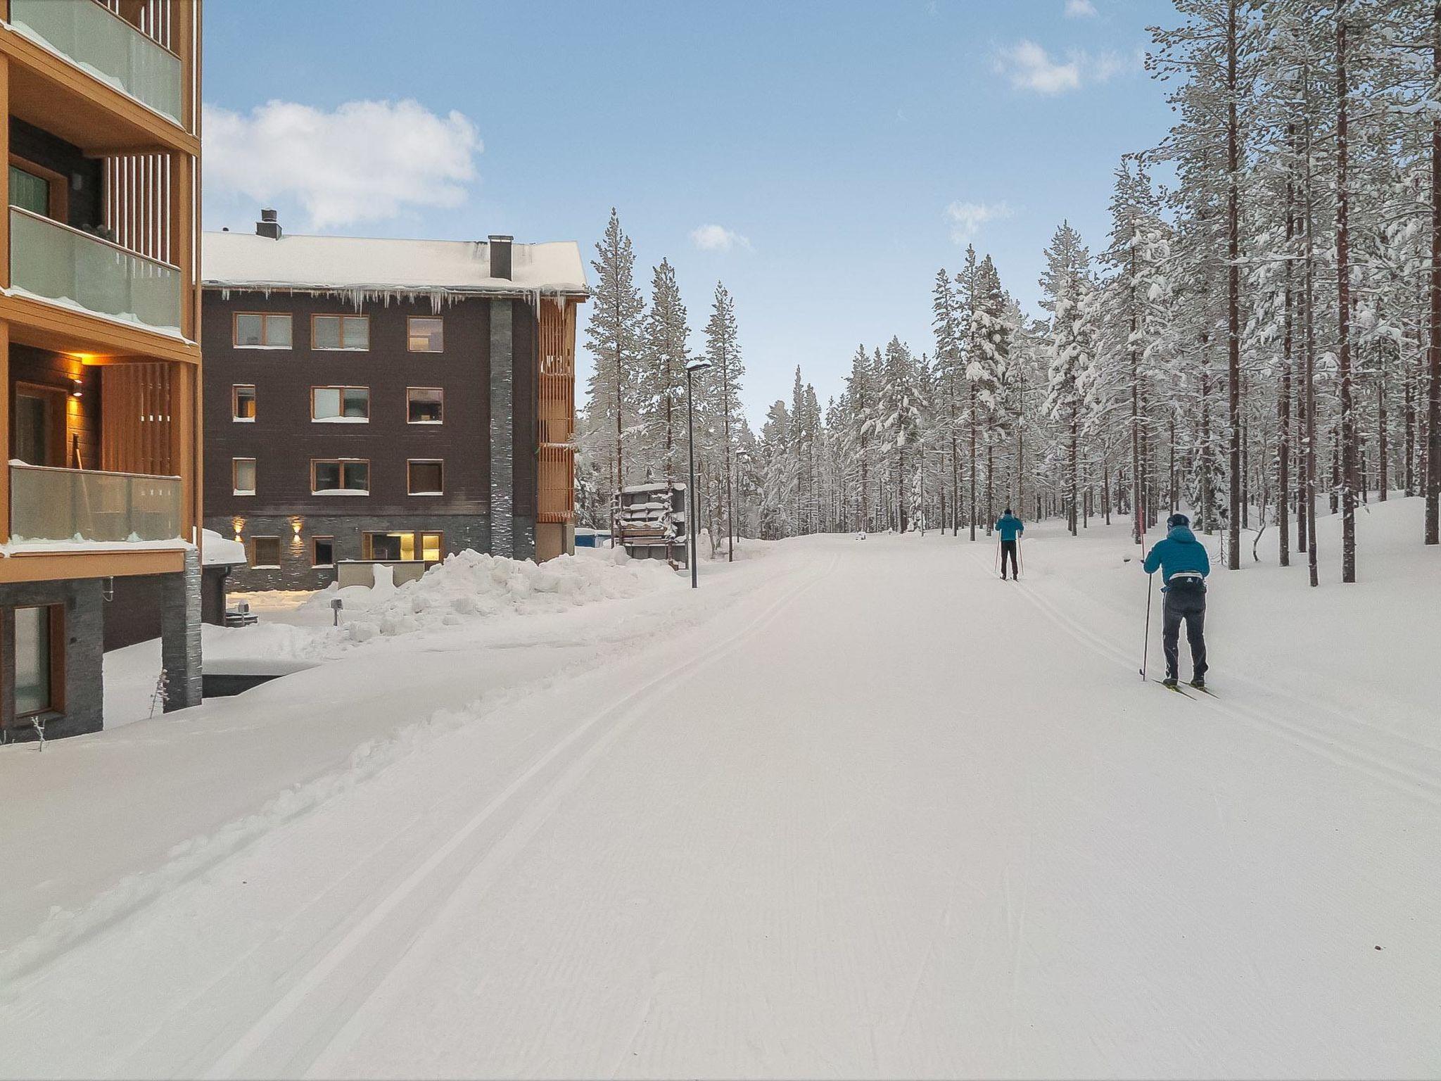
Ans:
{"type": "MultiPolygon", "coordinates": [[[[765,626],[772,618],[780,615],[780,613],[787,605],[790,605],[790,602],[798,594],[801,594],[804,590],[808,590],[811,585],[821,581],[831,571],[834,571],[839,556],[833,556],[824,571],[808,577],[806,581],[800,582],[798,585],[795,585],[794,588],[788,590],[785,594],[778,597],[774,602],[767,605],[767,608],[757,618],[751,620],[739,631],[736,631],[729,639],[719,643],[716,649],[708,651],[705,656],[690,657],[677,664],[673,664],[664,672],[660,672],[659,675],[653,676],[650,680],[647,680],[637,689],[627,693],[618,702],[614,702],[605,709],[591,715],[588,719],[585,719],[576,728],[574,728],[568,735],[565,735],[558,744],[555,744],[549,751],[537,757],[509,786],[506,786],[500,793],[491,797],[478,811],[476,811],[476,814],[473,814],[465,823],[463,823],[460,829],[457,829],[444,843],[435,848],[424,863],[421,863],[415,871],[412,871],[389,894],[380,898],[379,902],[373,908],[370,908],[365,914],[365,917],[362,917],[360,921],[356,922],[344,935],[342,935],[342,938],[334,946],[331,946],[331,948],[314,966],[311,966],[295,983],[293,983],[290,989],[264,1015],[261,1015],[255,1022],[252,1022],[249,1028],[236,1041],[233,1041],[229,1045],[229,1048],[223,1054],[220,1054],[219,1058],[216,1058],[212,1062],[212,1065],[202,1074],[202,1077],[206,1078],[229,1077],[238,1072],[241,1067],[245,1064],[246,1058],[249,1058],[255,1051],[264,1046],[265,1041],[272,1033],[275,1033],[277,1029],[280,1029],[280,1026],[285,1023],[285,1020],[294,1016],[295,1012],[301,1007],[301,1005],[324,984],[324,982],[336,971],[336,969],[339,969],[346,958],[349,958],[370,935],[373,935],[382,927],[382,924],[385,924],[385,921],[427,879],[429,879],[434,873],[437,873],[437,871],[442,865],[445,865],[450,856],[452,856],[457,852],[457,849],[460,849],[465,843],[465,840],[468,840],[481,826],[486,824],[486,822],[488,822],[497,811],[500,811],[517,793],[525,790],[527,784],[533,778],[536,778],[540,773],[543,773],[548,765],[555,762],[565,754],[565,751],[574,747],[581,739],[581,737],[584,737],[592,728],[601,725],[605,721],[615,722],[612,729],[607,734],[602,734],[591,745],[591,748],[582,752],[572,764],[572,767],[585,767],[591,760],[592,751],[597,749],[604,751],[610,745],[611,737],[618,734],[617,729],[621,728],[628,718],[634,716],[635,708],[641,705],[647,698],[653,696],[659,690],[669,688],[670,682],[676,676],[687,675],[690,672],[695,672],[696,669],[713,664],[715,662],[720,660],[731,650],[738,647],[752,631],[765,626]]],[[[546,803],[549,803],[548,796],[550,794],[555,796],[563,794],[561,788],[572,787],[575,781],[579,780],[581,775],[584,775],[584,771],[574,771],[574,768],[563,773],[556,786],[552,786],[552,793],[548,793],[540,797],[539,804],[543,807],[546,803]],[[566,780],[569,780],[569,784],[562,786],[562,781],[566,780]]],[[[549,816],[549,809],[546,809],[546,814],[542,816],[542,822],[543,817],[548,816],[549,816]]],[[[507,830],[507,833],[503,835],[496,842],[496,845],[491,846],[490,850],[481,853],[480,859],[477,860],[477,865],[486,862],[490,858],[491,852],[494,852],[496,849],[504,849],[507,846],[507,840],[512,840],[512,835],[522,824],[523,823],[517,823],[512,830],[507,830]]],[[[525,839],[522,839],[522,843],[525,839]]],[[[454,888],[460,888],[460,885],[463,885],[468,878],[470,878],[470,871],[467,871],[465,873],[460,875],[455,879],[454,888]]],[[[452,892],[454,889],[442,894],[438,898],[431,898],[427,911],[431,914],[438,911],[441,907],[444,907],[445,901],[451,897],[452,892]]],[[[411,924],[421,925],[424,922],[421,917],[422,917],[421,912],[411,911],[409,912],[411,924]]],[[[402,950],[399,957],[392,958],[391,963],[383,970],[367,973],[369,977],[367,983],[370,984],[372,990],[378,987],[380,983],[383,983],[385,976],[395,967],[395,964],[398,964],[403,958],[405,953],[411,946],[414,946],[414,941],[408,943],[406,950],[402,950]]],[[[369,997],[369,995],[366,995],[365,997],[369,997]]],[[[318,1059],[324,1054],[326,1045],[329,1045],[329,1042],[330,1039],[327,1038],[326,1044],[320,1046],[318,1054],[314,1056],[316,1059],[318,1059]]]]}

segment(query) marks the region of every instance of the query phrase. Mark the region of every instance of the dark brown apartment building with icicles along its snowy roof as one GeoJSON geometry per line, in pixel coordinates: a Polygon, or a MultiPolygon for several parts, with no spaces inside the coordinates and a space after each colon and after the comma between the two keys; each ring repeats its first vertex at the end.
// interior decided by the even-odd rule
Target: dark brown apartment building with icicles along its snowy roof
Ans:
{"type": "Polygon", "coordinates": [[[206,526],[235,588],[574,551],[574,242],[209,232],[206,526]]]}

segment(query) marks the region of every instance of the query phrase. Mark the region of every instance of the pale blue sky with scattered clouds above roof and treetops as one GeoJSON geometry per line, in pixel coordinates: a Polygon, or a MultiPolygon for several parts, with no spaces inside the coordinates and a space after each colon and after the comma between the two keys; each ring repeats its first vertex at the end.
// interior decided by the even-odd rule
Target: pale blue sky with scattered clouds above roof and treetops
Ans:
{"type": "Polygon", "coordinates": [[[859,342],[929,349],[931,281],[967,235],[1027,306],[1062,218],[1104,246],[1118,157],[1169,124],[1141,52],[1173,20],[1161,0],[215,0],[206,228],[264,200],[293,232],[510,232],[589,259],[615,206],[641,285],[669,258],[697,332],[715,283],[735,294],[754,422],[795,365],[824,401],[859,342]]]}

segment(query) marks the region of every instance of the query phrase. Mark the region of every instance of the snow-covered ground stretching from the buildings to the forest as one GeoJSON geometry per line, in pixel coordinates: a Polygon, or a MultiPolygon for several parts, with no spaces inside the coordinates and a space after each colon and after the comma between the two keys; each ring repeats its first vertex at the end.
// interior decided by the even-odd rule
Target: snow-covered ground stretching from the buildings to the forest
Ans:
{"type": "Polygon", "coordinates": [[[1441,552],[1360,528],[1218,572],[1216,699],[1123,523],[288,605],[317,667],[0,749],[0,1072],[1434,1075],[1441,552]]]}

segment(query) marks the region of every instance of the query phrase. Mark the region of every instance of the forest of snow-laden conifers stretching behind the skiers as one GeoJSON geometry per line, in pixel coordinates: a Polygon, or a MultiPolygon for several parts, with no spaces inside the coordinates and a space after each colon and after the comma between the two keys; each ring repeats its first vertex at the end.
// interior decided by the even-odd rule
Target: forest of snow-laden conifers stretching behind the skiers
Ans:
{"type": "MultiPolygon", "coordinates": [[[[989,532],[1012,504],[1133,535],[1176,509],[1235,568],[1257,530],[1355,581],[1355,516],[1441,483],[1441,3],[1176,0],[1150,71],[1174,107],[1115,169],[1110,231],[1062,222],[1027,314],[989,255],[937,272],[932,337],[857,347],[821,405],[800,369],[759,434],[731,295],[689,342],[673,268],[647,307],[614,212],[592,264],[595,356],[578,483],[684,477],[696,382],[700,525],[728,533],[989,532]],[[1164,183],[1159,180],[1164,177],[1164,183]],[[1092,251],[1092,248],[1095,248],[1092,251]],[[1319,553],[1316,515],[1343,517],[1319,553]]],[[[925,303],[918,297],[916,303],[925,303]]]]}

